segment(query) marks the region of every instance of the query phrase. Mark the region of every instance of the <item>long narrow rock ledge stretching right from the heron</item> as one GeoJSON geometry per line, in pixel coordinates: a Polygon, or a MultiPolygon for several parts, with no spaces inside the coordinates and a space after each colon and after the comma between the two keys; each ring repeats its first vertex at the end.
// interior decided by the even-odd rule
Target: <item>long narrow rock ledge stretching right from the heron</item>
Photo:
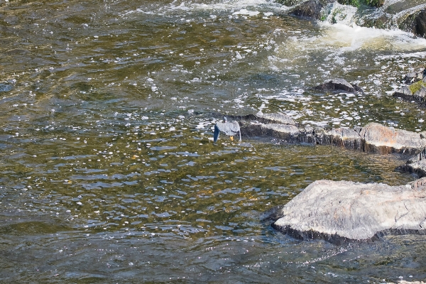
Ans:
{"type": "Polygon", "coordinates": [[[276,143],[333,145],[381,154],[415,155],[426,146],[426,133],[393,129],[376,123],[354,129],[323,129],[319,126],[298,126],[285,114],[251,114],[230,118],[239,120],[243,139],[268,137],[275,139],[276,143]]]}

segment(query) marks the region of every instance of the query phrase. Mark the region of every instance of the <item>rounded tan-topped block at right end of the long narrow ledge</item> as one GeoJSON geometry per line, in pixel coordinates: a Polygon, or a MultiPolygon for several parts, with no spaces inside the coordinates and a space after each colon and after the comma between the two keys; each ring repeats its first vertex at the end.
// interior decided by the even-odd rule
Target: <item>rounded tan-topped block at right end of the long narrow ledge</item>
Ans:
{"type": "Polygon", "coordinates": [[[364,141],[365,152],[414,155],[426,146],[425,131],[415,133],[371,123],[364,126],[359,135],[364,141]]]}

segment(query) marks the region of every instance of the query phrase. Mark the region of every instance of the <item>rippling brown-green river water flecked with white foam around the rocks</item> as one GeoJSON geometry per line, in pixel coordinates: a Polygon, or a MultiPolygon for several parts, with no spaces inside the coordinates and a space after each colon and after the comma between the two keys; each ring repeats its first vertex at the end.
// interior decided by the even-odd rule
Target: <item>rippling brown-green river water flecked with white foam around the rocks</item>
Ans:
{"type": "Polygon", "coordinates": [[[212,143],[218,115],[259,111],[426,130],[424,109],[391,97],[425,66],[425,39],[287,10],[0,1],[1,283],[425,279],[423,237],[334,246],[261,221],[314,180],[405,184],[415,177],[394,169],[407,157],[244,133],[212,143]],[[312,89],[332,77],[365,94],[312,89]]]}

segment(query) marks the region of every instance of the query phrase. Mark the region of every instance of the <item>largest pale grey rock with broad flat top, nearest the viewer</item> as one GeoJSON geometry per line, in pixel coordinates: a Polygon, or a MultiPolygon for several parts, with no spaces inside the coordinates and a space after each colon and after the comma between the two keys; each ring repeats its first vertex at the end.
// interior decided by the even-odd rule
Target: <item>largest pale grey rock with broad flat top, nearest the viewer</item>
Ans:
{"type": "Polygon", "coordinates": [[[296,239],[374,241],[386,234],[425,234],[426,188],[317,180],[282,209],[273,228],[296,239]]]}

